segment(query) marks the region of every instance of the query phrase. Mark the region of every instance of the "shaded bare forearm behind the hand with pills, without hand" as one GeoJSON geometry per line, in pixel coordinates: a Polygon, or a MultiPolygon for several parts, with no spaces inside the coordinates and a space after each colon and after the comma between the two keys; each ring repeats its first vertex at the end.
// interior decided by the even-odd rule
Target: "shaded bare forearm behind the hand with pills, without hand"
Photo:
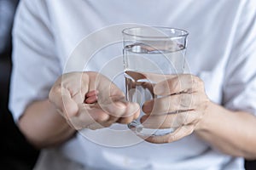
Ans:
{"type": "Polygon", "coordinates": [[[20,117],[19,127],[37,148],[61,144],[75,133],[48,99],[29,105],[20,117]]]}

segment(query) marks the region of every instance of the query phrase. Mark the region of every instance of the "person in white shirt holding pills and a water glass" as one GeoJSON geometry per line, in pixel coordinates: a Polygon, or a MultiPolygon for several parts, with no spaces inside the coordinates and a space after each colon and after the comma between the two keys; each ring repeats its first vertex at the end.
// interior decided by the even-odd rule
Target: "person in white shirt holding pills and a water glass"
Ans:
{"type": "MultiPolygon", "coordinates": [[[[37,168],[243,169],[241,157],[256,157],[255,7],[253,0],[22,1],[10,109],[26,138],[44,148],[37,168]],[[102,71],[121,54],[104,44],[109,37],[110,44],[119,41],[119,32],[134,25],[189,31],[191,74],[183,75],[184,87],[173,87],[177,79],[170,79],[154,89],[168,95],[154,105],[159,108],[182,99],[182,121],[176,132],[145,140],[121,125],[137,118],[138,105],[124,101],[122,82],[114,85],[102,71]],[[192,105],[183,103],[188,94],[192,105]]],[[[108,71],[118,72],[119,66],[108,71]]],[[[145,103],[143,109],[151,113],[152,106],[145,103]]],[[[161,112],[171,127],[169,110],[161,112]]],[[[163,120],[153,114],[151,122],[163,120]]]]}

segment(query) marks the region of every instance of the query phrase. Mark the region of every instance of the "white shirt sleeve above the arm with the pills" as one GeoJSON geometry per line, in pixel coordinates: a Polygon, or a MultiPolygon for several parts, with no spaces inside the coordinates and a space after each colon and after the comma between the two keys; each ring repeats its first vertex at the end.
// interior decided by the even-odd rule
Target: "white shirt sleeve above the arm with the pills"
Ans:
{"type": "Polygon", "coordinates": [[[15,121],[35,100],[47,99],[61,75],[47,5],[43,0],[20,1],[13,30],[13,71],[9,109],[15,121]]]}

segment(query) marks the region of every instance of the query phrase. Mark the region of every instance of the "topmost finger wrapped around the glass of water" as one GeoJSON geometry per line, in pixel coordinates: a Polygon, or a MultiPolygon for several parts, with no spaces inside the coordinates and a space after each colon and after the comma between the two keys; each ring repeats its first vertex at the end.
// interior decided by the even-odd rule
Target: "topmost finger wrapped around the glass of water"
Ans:
{"type": "Polygon", "coordinates": [[[158,82],[154,86],[154,94],[170,95],[180,93],[193,93],[203,88],[203,82],[199,77],[192,75],[177,75],[165,81],[158,82]]]}

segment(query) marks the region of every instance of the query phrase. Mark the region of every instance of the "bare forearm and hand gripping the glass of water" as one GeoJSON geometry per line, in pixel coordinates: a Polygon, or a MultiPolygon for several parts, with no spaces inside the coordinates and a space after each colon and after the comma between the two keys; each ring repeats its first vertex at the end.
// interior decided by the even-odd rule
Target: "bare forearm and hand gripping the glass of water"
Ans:
{"type": "Polygon", "coordinates": [[[143,126],[174,127],[177,130],[165,136],[148,137],[145,139],[148,142],[171,143],[195,133],[225,154],[256,158],[256,117],[214,104],[208,99],[199,77],[166,77],[166,81],[154,86],[154,94],[164,97],[145,102],[143,111],[146,116],[141,119],[143,126]]]}

